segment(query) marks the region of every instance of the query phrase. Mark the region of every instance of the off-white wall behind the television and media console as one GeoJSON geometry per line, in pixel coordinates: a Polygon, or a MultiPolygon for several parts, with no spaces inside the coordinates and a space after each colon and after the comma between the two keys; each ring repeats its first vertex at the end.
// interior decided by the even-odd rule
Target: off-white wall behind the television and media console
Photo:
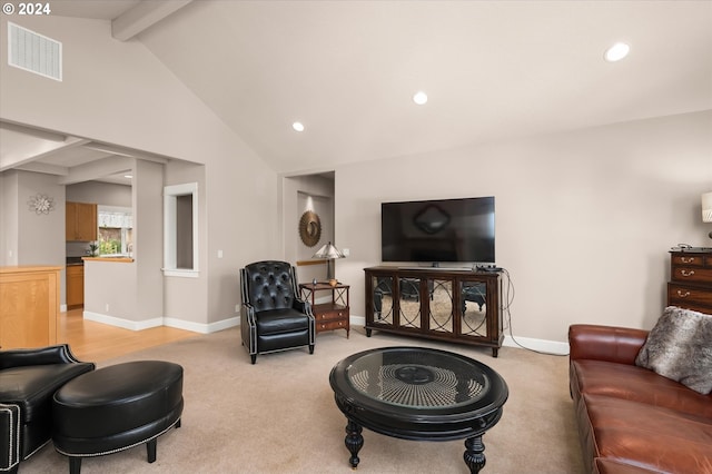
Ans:
{"type": "MultiPolygon", "coordinates": [[[[363,268],[380,263],[380,203],[495,196],[496,256],[515,288],[514,336],[566,340],[573,323],[650,328],[665,303],[671,246],[711,246],[712,111],[342,166],[336,235],[363,268]]],[[[508,333],[507,333],[508,334],[508,333]]]]}

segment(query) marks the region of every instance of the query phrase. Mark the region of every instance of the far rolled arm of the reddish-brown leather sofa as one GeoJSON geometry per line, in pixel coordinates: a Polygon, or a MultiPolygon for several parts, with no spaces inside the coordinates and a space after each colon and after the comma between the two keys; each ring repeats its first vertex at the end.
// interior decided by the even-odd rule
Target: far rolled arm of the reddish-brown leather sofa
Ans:
{"type": "Polygon", "coordinates": [[[647,330],[629,327],[574,324],[568,327],[570,359],[635,364],[647,330]]]}

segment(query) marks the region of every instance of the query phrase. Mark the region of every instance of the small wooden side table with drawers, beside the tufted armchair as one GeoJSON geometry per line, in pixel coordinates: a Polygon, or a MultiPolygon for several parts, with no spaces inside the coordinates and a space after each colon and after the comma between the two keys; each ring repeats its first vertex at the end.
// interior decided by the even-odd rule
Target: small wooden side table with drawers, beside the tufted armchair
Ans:
{"type": "Polygon", "coordinates": [[[335,286],[323,282],[316,285],[312,283],[299,284],[301,298],[312,305],[317,334],[324,330],[346,329],[346,338],[348,339],[350,330],[348,288],[349,285],[340,283],[335,286]],[[329,303],[315,303],[317,292],[332,292],[332,300],[329,303]]]}

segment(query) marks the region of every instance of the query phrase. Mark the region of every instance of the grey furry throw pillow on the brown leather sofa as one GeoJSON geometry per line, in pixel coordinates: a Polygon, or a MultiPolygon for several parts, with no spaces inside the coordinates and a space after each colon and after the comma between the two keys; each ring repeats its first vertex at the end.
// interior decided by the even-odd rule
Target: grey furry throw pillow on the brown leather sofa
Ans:
{"type": "Polygon", "coordinates": [[[712,392],[712,316],[665,308],[647,335],[635,365],[700,392],[712,392]]]}

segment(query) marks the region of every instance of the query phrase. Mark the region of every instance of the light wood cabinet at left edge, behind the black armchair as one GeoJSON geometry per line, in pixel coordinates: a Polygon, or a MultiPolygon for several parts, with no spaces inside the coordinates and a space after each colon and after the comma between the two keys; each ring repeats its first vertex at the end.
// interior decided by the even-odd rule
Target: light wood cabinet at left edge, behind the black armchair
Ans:
{"type": "Polygon", "coordinates": [[[0,267],[0,348],[57,344],[61,267],[0,267]]]}

